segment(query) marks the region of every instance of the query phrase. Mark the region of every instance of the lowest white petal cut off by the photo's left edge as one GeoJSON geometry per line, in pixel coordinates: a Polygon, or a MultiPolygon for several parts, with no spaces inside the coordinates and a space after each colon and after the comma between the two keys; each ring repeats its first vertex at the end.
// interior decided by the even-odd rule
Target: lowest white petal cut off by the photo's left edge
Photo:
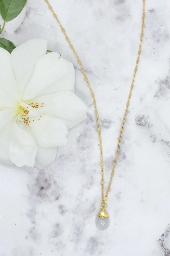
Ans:
{"type": "Polygon", "coordinates": [[[10,159],[10,131],[13,123],[10,122],[0,132],[0,161],[5,165],[13,165],[10,159]]]}

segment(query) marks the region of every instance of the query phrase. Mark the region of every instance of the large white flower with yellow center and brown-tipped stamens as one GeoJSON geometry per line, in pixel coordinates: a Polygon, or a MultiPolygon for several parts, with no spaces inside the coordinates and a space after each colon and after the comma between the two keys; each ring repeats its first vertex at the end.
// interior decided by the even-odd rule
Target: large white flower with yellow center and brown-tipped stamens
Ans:
{"type": "Polygon", "coordinates": [[[0,160],[43,168],[67,142],[69,128],[86,118],[74,93],[73,65],[32,39],[10,54],[0,48],[0,160]]]}

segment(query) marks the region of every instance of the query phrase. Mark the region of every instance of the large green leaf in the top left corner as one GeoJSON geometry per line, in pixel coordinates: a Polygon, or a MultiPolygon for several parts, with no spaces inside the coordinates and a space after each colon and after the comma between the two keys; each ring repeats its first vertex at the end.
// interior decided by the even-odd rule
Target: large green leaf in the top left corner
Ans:
{"type": "Polygon", "coordinates": [[[27,0],[0,0],[0,14],[5,22],[20,14],[27,0]]]}

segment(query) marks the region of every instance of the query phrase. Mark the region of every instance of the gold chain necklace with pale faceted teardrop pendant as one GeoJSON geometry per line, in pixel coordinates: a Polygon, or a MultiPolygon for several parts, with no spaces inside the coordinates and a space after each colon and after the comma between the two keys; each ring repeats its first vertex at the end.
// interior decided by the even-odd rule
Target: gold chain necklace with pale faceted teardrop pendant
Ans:
{"type": "Polygon", "coordinates": [[[96,115],[96,122],[97,122],[97,131],[98,131],[98,135],[99,135],[99,147],[100,147],[100,159],[101,159],[101,162],[100,162],[100,164],[101,164],[101,194],[102,194],[102,196],[101,196],[101,211],[99,212],[99,214],[98,214],[98,216],[96,218],[96,226],[99,229],[106,229],[109,226],[109,218],[108,218],[108,215],[107,215],[107,213],[105,211],[105,209],[106,209],[106,201],[107,201],[107,198],[108,198],[108,193],[110,191],[112,180],[113,180],[113,176],[114,176],[114,173],[115,173],[115,167],[116,167],[117,158],[118,158],[118,154],[119,154],[120,143],[121,143],[121,140],[122,140],[124,124],[126,122],[126,116],[127,116],[127,113],[128,113],[128,108],[129,108],[130,99],[131,99],[131,96],[132,96],[132,91],[133,91],[133,87],[134,87],[136,73],[137,73],[137,70],[138,70],[138,63],[139,63],[139,60],[140,60],[140,54],[141,54],[141,48],[142,48],[143,31],[144,31],[144,27],[145,27],[145,0],[142,0],[142,1],[143,1],[143,3],[142,3],[142,25],[141,25],[139,50],[138,50],[135,70],[134,70],[134,74],[133,74],[133,79],[132,79],[132,83],[131,83],[131,87],[130,87],[130,93],[129,93],[129,96],[128,96],[128,101],[126,103],[126,109],[125,109],[125,112],[124,112],[124,116],[123,116],[123,120],[122,120],[122,125],[121,125],[121,128],[120,128],[120,134],[119,134],[119,138],[118,138],[118,144],[117,144],[117,149],[116,149],[116,154],[115,154],[115,160],[114,160],[114,163],[113,163],[113,169],[112,169],[112,172],[111,172],[111,177],[110,177],[109,184],[108,184],[108,187],[107,187],[107,190],[106,190],[106,194],[104,196],[103,146],[102,146],[101,128],[100,128],[100,122],[99,122],[99,117],[98,117],[98,110],[97,110],[95,94],[94,94],[94,92],[93,92],[93,90],[91,88],[91,85],[89,84],[89,81],[88,81],[88,78],[87,78],[86,73],[84,71],[82,62],[79,59],[79,56],[78,56],[77,52],[75,51],[72,43],[70,42],[70,39],[69,39],[69,37],[68,37],[68,35],[66,33],[66,30],[63,28],[62,24],[60,23],[60,20],[58,19],[58,17],[56,15],[56,13],[54,12],[52,6],[49,4],[49,1],[45,0],[45,2],[48,4],[48,7],[49,7],[50,11],[52,12],[54,18],[56,19],[58,25],[61,27],[62,32],[65,35],[65,38],[66,38],[67,42],[70,45],[70,48],[72,49],[75,57],[77,58],[78,64],[80,65],[80,68],[81,68],[81,71],[83,73],[84,79],[85,79],[85,81],[87,83],[87,86],[88,86],[88,88],[90,90],[91,97],[93,99],[95,115],[96,115]]]}

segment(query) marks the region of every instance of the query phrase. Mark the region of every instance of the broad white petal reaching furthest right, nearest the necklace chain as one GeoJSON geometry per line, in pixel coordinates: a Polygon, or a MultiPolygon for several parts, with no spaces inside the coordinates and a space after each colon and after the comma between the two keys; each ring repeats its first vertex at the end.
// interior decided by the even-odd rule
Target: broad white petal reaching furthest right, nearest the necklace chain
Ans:
{"type": "Polygon", "coordinates": [[[55,94],[40,96],[35,101],[44,102],[46,113],[68,120],[69,128],[86,119],[87,107],[84,102],[71,91],[58,91],[55,94]]]}

